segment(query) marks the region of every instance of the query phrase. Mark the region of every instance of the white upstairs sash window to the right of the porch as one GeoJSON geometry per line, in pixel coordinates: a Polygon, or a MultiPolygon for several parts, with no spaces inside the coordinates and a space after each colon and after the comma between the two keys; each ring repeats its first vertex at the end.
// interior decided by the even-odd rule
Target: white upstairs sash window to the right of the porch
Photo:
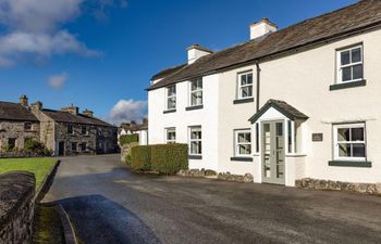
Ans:
{"type": "Polygon", "coordinates": [[[337,51],[337,82],[362,80],[362,46],[337,51]]]}

